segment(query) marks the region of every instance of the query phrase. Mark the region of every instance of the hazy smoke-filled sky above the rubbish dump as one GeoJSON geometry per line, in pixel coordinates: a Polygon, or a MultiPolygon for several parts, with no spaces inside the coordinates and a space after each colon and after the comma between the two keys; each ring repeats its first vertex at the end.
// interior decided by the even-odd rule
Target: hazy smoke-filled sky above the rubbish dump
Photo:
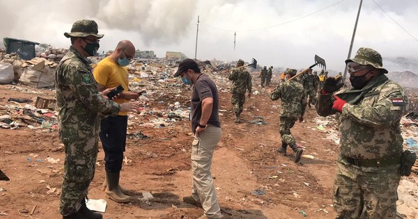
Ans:
{"type": "MultiPolygon", "coordinates": [[[[95,19],[104,34],[100,51],[131,40],[157,57],[181,51],[194,58],[199,15],[198,59],[256,58],[260,65],[300,69],[317,54],[328,69],[343,71],[358,6],[359,0],[0,0],[0,38],[68,47],[63,33],[79,19],[95,19]]],[[[384,66],[385,58],[418,58],[417,11],[417,0],[364,0],[352,57],[372,47],[384,66]]]]}

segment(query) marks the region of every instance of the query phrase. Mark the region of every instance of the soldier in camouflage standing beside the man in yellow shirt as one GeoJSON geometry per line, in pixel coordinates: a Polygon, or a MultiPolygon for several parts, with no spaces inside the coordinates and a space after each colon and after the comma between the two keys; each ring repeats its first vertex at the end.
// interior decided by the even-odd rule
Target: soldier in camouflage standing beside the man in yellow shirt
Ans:
{"type": "Polygon", "coordinates": [[[72,25],[71,47],[56,67],[55,91],[59,107],[59,138],[64,144],[65,162],[59,211],[63,218],[102,218],[86,207],[85,197],[93,180],[98,154],[100,117],[134,111],[137,104],[117,104],[105,98],[111,89],[98,92],[91,61],[99,48],[98,25],[80,20],[72,25]]]}

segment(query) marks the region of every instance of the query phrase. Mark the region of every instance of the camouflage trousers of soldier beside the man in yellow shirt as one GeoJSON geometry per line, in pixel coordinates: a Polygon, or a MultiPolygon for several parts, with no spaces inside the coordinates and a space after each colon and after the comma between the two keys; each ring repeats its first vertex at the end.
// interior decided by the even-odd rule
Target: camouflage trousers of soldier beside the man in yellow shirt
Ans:
{"type": "Polygon", "coordinates": [[[98,138],[64,143],[65,162],[59,212],[68,216],[79,211],[94,177],[98,138]]]}

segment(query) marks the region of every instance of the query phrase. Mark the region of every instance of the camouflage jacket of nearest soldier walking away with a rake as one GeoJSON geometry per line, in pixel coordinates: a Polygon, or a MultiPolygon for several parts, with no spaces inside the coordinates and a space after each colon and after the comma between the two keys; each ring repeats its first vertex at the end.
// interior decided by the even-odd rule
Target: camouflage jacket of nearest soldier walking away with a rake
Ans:
{"type": "Polygon", "coordinates": [[[271,100],[281,99],[280,116],[300,117],[307,108],[306,93],[302,84],[297,81],[284,81],[270,92],[271,100]]]}

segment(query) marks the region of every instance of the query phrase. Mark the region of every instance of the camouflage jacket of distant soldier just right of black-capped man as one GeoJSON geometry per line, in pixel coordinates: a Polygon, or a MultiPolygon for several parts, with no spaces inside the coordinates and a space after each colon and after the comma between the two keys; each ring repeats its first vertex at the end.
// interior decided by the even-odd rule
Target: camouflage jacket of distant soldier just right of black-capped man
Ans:
{"type": "Polygon", "coordinates": [[[233,70],[229,74],[228,79],[232,81],[231,92],[245,93],[247,89],[248,92],[251,92],[251,74],[247,70],[233,70]]]}

